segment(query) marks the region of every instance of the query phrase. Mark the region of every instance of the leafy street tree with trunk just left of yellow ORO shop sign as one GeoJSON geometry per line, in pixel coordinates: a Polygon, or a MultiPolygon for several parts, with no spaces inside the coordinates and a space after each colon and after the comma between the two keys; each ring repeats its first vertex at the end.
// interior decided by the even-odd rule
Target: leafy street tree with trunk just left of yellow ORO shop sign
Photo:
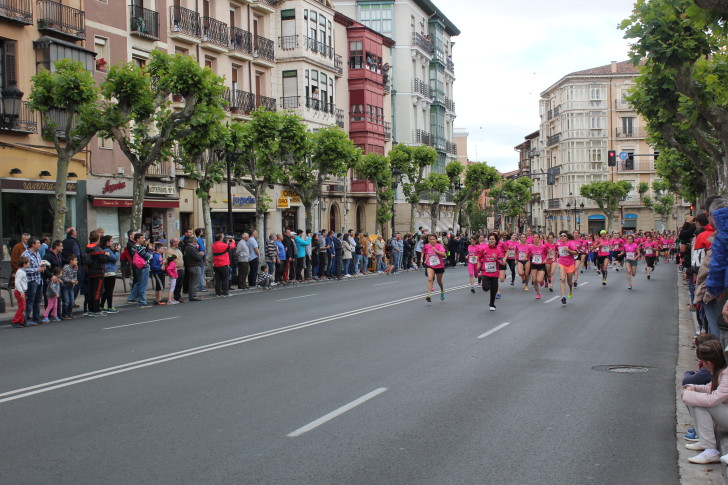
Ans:
{"type": "Polygon", "coordinates": [[[306,156],[308,144],[306,127],[292,113],[256,110],[251,117],[246,123],[232,123],[227,151],[235,180],[255,198],[256,228],[264,237],[265,214],[272,202],[266,190],[283,180],[284,166],[306,156]]]}

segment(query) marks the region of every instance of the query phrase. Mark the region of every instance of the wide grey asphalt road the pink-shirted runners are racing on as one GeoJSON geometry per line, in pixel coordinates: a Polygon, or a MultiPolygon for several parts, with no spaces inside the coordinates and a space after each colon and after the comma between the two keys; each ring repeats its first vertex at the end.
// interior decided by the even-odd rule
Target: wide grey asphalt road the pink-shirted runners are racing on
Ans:
{"type": "Polygon", "coordinates": [[[0,483],[677,484],[676,272],[642,269],[565,306],[489,312],[458,268],[429,304],[411,272],[2,328],[0,483]]]}

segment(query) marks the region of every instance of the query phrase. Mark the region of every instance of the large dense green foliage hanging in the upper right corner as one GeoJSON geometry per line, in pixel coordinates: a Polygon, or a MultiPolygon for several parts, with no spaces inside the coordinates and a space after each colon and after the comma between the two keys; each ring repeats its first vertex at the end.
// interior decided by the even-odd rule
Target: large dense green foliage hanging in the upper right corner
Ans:
{"type": "MultiPolygon", "coordinates": [[[[723,2],[698,3],[720,10],[723,2]]],[[[621,24],[640,65],[628,100],[660,150],[658,173],[688,199],[728,190],[728,37],[720,17],[691,0],[639,0],[621,24]]]]}

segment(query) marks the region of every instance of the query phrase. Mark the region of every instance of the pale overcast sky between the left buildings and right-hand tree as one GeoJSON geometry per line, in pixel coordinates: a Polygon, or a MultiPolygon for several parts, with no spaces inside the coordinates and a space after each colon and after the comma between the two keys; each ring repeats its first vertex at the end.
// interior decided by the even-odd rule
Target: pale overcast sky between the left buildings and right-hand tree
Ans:
{"type": "Polygon", "coordinates": [[[462,32],[453,49],[455,126],[470,133],[470,160],[502,172],[518,168],[513,147],[539,129],[542,91],[571,72],[628,58],[617,26],[633,0],[435,3],[462,32]]]}

